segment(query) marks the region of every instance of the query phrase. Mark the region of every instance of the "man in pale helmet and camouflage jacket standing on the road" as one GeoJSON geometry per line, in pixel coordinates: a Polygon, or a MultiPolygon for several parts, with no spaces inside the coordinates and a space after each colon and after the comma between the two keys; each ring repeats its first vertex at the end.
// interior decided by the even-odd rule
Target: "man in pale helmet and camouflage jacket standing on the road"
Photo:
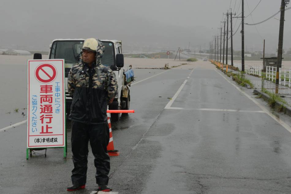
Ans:
{"type": "Polygon", "coordinates": [[[107,105],[117,92],[115,74],[100,63],[104,44],[89,38],[84,41],[82,62],[71,68],[68,76],[68,91],[73,98],[69,119],[72,120],[72,152],[74,169],[73,185],[67,191],[85,188],[88,163],[88,142],[92,148],[96,167],[98,191],[108,188],[110,159],[107,153],[109,127],[107,105]]]}

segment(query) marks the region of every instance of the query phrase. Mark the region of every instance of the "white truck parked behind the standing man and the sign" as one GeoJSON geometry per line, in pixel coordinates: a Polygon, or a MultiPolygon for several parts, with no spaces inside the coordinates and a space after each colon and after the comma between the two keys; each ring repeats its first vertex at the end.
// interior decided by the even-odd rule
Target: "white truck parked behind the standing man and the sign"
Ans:
{"type": "MultiPolygon", "coordinates": [[[[66,89],[66,112],[70,113],[72,98],[67,89],[68,73],[70,68],[79,63],[81,48],[85,39],[55,39],[51,42],[49,59],[65,59],[65,89],[66,89]]],[[[134,81],[131,66],[124,67],[121,41],[101,40],[105,45],[101,63],[116,75],[118,92],[114,101],[109,105],[109,110],[128,110],[130,103],[129,86],[134,81]]],[[[34,59],[41,59],[41,54],[35,54],[34,59]]],[[[111,120],[118,121],[121,113],[111,113],[111,120]]]]}

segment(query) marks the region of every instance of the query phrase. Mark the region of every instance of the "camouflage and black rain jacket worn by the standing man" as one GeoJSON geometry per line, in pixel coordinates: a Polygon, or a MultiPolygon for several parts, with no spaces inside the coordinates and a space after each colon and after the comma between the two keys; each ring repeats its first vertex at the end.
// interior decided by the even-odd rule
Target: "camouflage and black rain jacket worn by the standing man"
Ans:
{"type": "Polygon", "coordinates": [[[107,105],[117,87],[115,74],[100,63],[91,69],[83,63],[73,66],[68,75],[68,91],[73,98],[69,119],[86,124],[107,122],[107,105]]]}

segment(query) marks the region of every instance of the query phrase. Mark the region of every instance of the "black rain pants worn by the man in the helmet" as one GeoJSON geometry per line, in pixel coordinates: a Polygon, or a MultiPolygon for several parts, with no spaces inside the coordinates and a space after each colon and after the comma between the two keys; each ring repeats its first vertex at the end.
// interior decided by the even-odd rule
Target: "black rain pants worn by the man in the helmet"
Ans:
{"type": "Polygon", "coordinates": [[[83,124],[72,121],[72,152],[74,169],[72,170],[72,183],[78,185],[86,184],[88,163],[88,142],[95,157],[96,183],[108,185],[110,158],[107,153],[109,143],[108,123],[83,124]]]}

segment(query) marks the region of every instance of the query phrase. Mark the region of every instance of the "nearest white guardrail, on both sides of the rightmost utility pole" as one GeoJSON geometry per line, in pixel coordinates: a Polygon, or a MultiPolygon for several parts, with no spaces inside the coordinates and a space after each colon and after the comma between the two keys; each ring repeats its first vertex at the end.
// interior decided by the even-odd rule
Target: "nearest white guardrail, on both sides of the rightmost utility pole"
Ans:
{"type": "MultiPolygon", "coordinates": [[[[268,80],[276,80],[277,67],[266,66],[266,78],[268,80]]],[[[291,87],[291,68],[279,68],[279,85],[291,87]]]]}

